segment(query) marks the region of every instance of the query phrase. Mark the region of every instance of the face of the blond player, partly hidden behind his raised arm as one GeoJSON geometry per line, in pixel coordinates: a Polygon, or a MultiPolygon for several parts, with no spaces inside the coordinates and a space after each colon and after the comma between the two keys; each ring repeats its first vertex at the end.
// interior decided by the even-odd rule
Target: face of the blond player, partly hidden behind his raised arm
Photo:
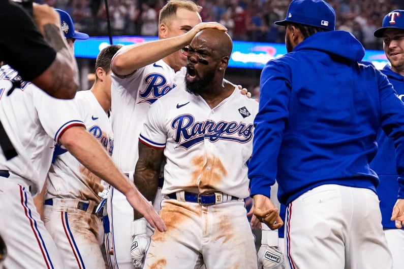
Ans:
{"type": "MultiPolygon", "coordinates": [[[[169,38],[184,34],[201,22],[202,20],[198,12],[187,9],[178,9],[176,18],[166,24],[168,27],[166,37],[169,38]]],[[[172,55],[172,61],[178,68],[187,65],[187,57],[184,56],[181,51],[178,51],[172,55]]]]}

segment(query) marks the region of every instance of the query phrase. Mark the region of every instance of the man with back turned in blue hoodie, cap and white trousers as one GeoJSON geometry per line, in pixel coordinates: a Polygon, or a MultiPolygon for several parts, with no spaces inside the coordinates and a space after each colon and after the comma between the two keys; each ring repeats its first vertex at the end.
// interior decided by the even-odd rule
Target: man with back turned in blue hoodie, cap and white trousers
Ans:
{"type": "MultiPolygon", "coordinates": [[[[379,178],[369,163],[383,128],[394,139],[404,197],[404,104],[385,75],[358,63],[363,46],[334,30],[326,2],[293,0],[285,20],[275,23],[286,27],[288,53],[261,74],[248,171],[254,214],[271,229],[283,224],[269,198],[276,178],[279,202],[287,205],[291,268],[392,268],[379,178]]],[[[392,216],[399,226],[403,201],[392,216]]]]}

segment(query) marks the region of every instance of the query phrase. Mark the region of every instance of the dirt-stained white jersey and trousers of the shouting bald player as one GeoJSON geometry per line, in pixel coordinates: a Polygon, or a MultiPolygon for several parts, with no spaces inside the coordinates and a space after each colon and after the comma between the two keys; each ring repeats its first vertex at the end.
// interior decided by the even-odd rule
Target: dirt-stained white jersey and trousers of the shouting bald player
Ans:
{"type": "MultiPolygon", "coordinates": [[[[154,103],[139,139],[164,148],[162,193],[219,190],[247,197],[246,162],[253,150],[257,112],[258,103],[236,89],[214,108],[184,87],[154,103]]],[[[166,268],[179,269],[198,268],[201,262],[206,268],[257,268],[254,236],[242,200],[202,206],[164,199],[159,215],[167,231],[154,231],[144,268],[161,261],[166,268]]]]}

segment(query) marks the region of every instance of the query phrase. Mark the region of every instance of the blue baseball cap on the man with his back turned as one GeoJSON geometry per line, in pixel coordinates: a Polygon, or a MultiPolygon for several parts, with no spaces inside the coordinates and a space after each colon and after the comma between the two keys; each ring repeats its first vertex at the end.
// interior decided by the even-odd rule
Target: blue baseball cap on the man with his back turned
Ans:
{"type": "Polygon", "coordinates": [[[323,0],[293,0],[283,21],[275,24],[286,26],[289,22],[335,30],[335,11],[323,0]]]}

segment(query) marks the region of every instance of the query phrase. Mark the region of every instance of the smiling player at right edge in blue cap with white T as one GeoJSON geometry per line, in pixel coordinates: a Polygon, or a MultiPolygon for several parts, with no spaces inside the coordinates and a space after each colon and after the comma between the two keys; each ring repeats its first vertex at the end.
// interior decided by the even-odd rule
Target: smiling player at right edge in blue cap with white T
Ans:
{"type": "MultiPolygon", "coordinates": [[[[383,19],[382,28],[374,33],[376,37],[383,39],[383,48],[390,65],[386,65],[381,71],[393,85],[398,97],[404,101],[404,10],[389,12],[383,19]]],[[[402,268],[404,264],[404,230],[397,229],[394,221],[391,221],[391,209],[396,201],[399,185],[397,182],[397,170],[394,165],[394,141],[386,136],[383,130],[378,133],[378,153],[370,163],[379,178],[380,185],[377,188],[382,212],[382,225],[387,244],[393,256],[393,268],[402,268]]]]}

